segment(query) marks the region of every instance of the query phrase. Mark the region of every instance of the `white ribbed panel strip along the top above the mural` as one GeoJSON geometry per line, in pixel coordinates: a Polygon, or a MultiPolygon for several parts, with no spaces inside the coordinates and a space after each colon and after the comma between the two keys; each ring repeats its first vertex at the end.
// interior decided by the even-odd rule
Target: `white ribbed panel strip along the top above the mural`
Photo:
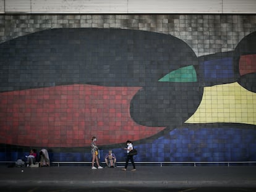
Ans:
{"type": "Polygon", "coordinates": [[[255,14],[256,0],[0,0],[1,14],[255,14]]]}

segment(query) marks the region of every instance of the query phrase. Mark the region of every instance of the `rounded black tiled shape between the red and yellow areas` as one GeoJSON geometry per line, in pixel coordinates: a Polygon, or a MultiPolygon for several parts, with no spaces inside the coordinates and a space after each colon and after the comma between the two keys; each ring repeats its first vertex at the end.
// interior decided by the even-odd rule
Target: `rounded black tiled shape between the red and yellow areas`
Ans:
{"type": "Polygon", "coordinates": [[[140,125],[179,126],[197,110],[202,95],[198,83],[155,83],[135,94],[130,115],[140,125]]]}

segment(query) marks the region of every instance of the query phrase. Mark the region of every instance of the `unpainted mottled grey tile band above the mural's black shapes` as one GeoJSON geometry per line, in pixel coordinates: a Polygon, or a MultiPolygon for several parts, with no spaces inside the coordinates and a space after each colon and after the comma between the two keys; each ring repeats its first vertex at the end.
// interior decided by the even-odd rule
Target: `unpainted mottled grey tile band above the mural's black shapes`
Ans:
{"type": "Polygon", "coordinates": [[[49,28],[124,28],[170,34],[203,56],[233,51],[256,31],[256,15],[0,15],[0,43],[49,28]]]}

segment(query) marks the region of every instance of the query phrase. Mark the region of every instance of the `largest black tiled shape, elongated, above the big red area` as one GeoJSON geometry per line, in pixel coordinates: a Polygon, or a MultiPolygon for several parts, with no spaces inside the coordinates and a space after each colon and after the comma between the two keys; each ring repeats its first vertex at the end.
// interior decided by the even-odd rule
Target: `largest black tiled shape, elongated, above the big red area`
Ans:
{"type": "Polygon", "coordinates": [[[0,44],[0,91],[57,85],[147,86],[197,65],[184,41],[149,31],[59,28],[0,44]]]}

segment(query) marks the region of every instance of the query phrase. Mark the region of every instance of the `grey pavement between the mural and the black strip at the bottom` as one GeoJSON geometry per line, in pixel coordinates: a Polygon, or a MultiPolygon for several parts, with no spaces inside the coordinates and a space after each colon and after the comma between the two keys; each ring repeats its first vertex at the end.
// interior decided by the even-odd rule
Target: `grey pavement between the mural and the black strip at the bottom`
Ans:
{"type": "Polygon", "coordinates": [[[135,172],[131,166],[126,172],[90,166],[0,169],[0,186],[256,187],[255,166],[138,166],[135,172]]]}

